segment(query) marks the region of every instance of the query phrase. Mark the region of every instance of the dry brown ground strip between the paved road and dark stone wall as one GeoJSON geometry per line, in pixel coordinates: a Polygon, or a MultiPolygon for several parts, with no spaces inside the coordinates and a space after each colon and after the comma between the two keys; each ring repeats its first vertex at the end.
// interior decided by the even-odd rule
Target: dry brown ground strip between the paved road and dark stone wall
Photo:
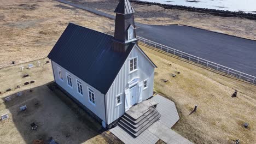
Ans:
{"type": "MultiPolygon", "coordinates": [[[[114,15],[118,0],[69,0],[84,4],[114,15]]],[[[165,9],[158,5],[132,3],[135,8],[135,21],[150,25],[181,24],[214,32],[235,35],[256,40],[256,21],[240,17],[221,17],[179,9],[165,9]]]]}

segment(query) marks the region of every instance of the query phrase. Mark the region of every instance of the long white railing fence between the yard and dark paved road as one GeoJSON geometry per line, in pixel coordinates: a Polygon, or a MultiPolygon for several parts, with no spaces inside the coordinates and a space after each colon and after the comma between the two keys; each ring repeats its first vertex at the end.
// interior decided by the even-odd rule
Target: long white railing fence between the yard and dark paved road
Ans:
{"type": "Polygon", "coordinates": [[[225,74],[235,76],[237,79],[246,80],[248,82],[256,84],[256,77],[255,76],[242,73],[241,71],[237,71],[237,70],[225,67],[223,65],[220,65],[220,64],[217,64],[217,63],[214,63],[214,62],[211,62],[211,61],[207,61],[206,59],[202,59],[200,57],[190,55],[189,53],[185,53],[185,52],[173,49],[171,47],[155,43],[154,41],[144,39],[142,37],[137,36],[137,38],[138,38],[138,41],[141,42],[141,43],[147,44],[149,46],[153,46],[157,49],[166,51],[168,53],[172,53],[173,55],[179,56],[181,58],[184,58],[184,59],[187,59],[189,61],[195,62],[197,64],[201,64],[201,65],[203,65],[207,68],[212,68],[214,70],[222,71],[225,74]]]}

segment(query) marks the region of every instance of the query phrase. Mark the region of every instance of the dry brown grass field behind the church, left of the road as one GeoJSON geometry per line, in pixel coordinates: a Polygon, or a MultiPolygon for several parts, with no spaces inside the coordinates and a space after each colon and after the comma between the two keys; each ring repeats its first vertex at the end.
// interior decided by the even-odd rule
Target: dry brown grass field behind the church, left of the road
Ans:
{"type": "Polygon", "coordinates": [[[109,34],[114,30],[113,20],[56,1],[1,1],[0,68],[46,57],[69,22],[109,34]]]}

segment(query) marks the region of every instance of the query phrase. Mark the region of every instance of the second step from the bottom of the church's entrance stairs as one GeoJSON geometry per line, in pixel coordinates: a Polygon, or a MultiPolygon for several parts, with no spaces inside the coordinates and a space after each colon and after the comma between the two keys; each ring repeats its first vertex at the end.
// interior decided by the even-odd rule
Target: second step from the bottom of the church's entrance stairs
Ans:
{"type": "Polygon", "coordinates": [[[129,129],[133,133],[137,133],[139,130],[141,130],[145,125],[147,125],[150,121],[152,121],[152,119],[154,119],[158,115],[159,115],[159,112],[156,111],[154,113],[154,115],[148,116],[147,118],[145,118],[145,120],[141,121],[136,126],[131,125],[130,123],[127,123],[126,121],[119,121],[119,123],[121,123],[125,128],[129,129]]]}

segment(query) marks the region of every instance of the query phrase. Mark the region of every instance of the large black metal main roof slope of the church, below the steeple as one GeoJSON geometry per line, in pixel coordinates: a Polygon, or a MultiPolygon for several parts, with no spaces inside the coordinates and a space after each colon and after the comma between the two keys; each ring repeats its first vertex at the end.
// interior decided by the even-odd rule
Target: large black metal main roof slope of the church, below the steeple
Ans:
{"type": "Polygon", "coordinates": [[[106,94],[136,43],[112,50],[113,36],[69,23],[48,57],[106,94]]]}

